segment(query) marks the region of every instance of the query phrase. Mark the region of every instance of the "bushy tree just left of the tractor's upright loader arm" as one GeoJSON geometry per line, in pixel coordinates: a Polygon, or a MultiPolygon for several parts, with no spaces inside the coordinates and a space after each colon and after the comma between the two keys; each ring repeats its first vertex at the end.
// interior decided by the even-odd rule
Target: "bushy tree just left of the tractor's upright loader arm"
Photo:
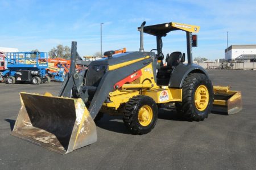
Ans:
{"type": "Polygon", "coordinates": [[[51,58],[61,57],[61,58],[69,59],[71,57],[71,48],[69,48],[69,46],[67,46],[67,45],[63,46],[63,45],[59,44],[56,46],[56,48],[53,47],[49,51],[49,56],[51,58]]]}

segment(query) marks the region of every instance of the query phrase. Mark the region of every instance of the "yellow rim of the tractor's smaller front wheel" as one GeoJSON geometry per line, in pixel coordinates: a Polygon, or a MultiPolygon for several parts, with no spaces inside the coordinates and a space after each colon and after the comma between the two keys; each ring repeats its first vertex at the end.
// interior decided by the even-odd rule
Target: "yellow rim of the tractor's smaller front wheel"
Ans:
{"type": "Polygon", "coordinates": [[[139,124],[142,126],[148,126],[153,118],[153,111],[152,108],[148,105],[143,105],[141,109],[139,109],[138,113],[138,119],[139,119],[139,124]]]}

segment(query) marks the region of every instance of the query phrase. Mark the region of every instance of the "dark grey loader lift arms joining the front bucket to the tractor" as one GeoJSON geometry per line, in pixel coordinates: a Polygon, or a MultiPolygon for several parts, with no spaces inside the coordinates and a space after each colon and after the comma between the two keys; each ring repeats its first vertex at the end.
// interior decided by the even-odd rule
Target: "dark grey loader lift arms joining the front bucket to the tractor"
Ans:
{"type": "Polygon", "coordinates": [[[84,101],[84,103],[87,103],[89,99],[88,92],[93,91],[93,97],[92,97],[92,100],[90,101],[90,106],[88,108],[88,111],[93,119],[97,116],[98,112],[100,111],[102,104],[104,103],[104,101],[107,99],[109,95],[109,92],[114,90],[115,83],[117,83],[119,80],[123,79],[124,77],[127,77],[130,74],[133,74],[134,70],[140,70],[142,69],[142,67],[150,64],[152,58],[154,58],[154,57],[145,57],[141,61],[131,63],[130,65],[127,65],[127,66],[122,66],[113,70],[105,69],[104,71],[106,73],[102,76],[98,86],[97,87],[88,86],[88,84],[84,82],[84,80],[86,80],[86,73],[88,72],[88,69],[77,73],[75,65],[78,64],[78,65],[89,66],[90,63],[93,63],[93,61],[81,61],[81,57],[79,57],[79,54],[76,51],[77,49],[76,46],[77,46],[77,42],[73,41],[72,48],[71,48],[70,71],[68,73],[68,76],[66,76],[63,82],[63,86],[61,86],[58,96],[73,97],[73,98],[80,97],[84,101]],[[76,93],[74,93],[74,91],[76,91],[76,93]]]}

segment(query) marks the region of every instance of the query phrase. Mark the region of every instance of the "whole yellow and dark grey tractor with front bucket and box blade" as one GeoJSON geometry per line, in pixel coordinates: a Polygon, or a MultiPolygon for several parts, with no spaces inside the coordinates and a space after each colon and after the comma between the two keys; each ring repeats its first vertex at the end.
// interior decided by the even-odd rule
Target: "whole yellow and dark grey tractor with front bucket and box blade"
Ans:
{"type": "Polygon", "coordinates": [[[240,91],[213,87],[207,71],[193,63],[197,36],[192,33],[200,27],[174,22],[145,24],[138,28],[138,52],[108,51],[104,53],[108,57],[83,61],[72,42],[70,71],[58,96],[21,92],[22,107],[11,134],[66,154],[97,141],[94,120],[103,113],[122,114],[132,134],[147,134],[164,105],[175,104],[188,121],[203,121],[211,111],[233,114],[242,109],[240,91]],[[164,66],[162,37],[175,30],[186,33],[187,63],[185,53],[172,52],[164,66]],[[156,36],[156,49],[144,52],[143,33],[156,36]]]}

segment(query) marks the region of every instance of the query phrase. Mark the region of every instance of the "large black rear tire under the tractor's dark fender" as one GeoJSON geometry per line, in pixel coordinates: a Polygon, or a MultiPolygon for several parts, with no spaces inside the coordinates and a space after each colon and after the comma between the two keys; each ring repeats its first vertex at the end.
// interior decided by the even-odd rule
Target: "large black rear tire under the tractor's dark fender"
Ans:
{"type": "MultiPolygon", "coordinates": [[[[203,93],[204,94],[204,93],[203,93]]],[[[200,98],[200,101],[203,100],[200,98]]],[[[177,112],[188,121],[203,121],[208,117],[213,104],[213,86],[212,82],[205,74],[189,74],[183,82],[182,102],[175,103],[177,112]],[[206,101],[203,108],[198,108],[195,102],[195,93],[197,88],[206,87],[209,100],[206,101]],[[207,103],[208,102],[208,103],[207,103]]]]}

